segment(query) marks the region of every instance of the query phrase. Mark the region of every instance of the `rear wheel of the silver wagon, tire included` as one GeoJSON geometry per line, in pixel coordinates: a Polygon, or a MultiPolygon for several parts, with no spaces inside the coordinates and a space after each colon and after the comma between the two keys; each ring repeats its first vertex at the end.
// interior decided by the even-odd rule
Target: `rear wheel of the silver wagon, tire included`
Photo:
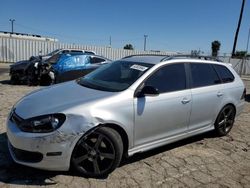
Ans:
{"type": "Polygon", "coordinates": [[[223,107],[215,121],[215,132],[219,136],[227,135],[233,127],[235,119],[235,109],[232,105],[223,107]]]}

